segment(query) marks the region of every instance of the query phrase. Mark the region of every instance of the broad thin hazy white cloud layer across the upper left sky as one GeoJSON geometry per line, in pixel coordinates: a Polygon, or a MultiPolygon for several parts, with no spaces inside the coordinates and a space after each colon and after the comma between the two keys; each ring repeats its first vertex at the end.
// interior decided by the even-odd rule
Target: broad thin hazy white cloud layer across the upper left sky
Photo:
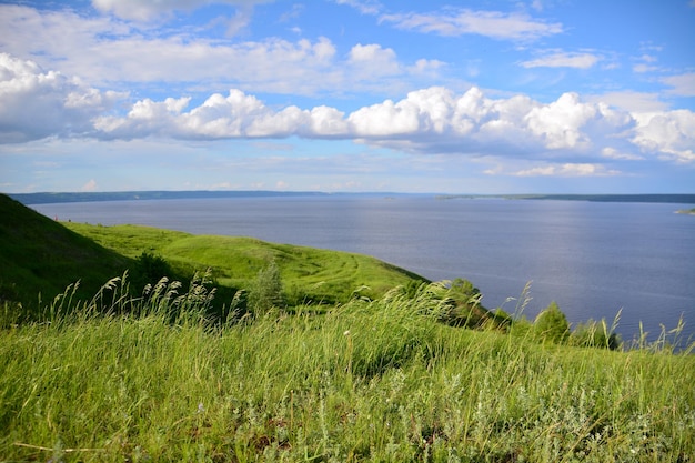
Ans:
{"type": "Polygon", "coordinates": [[[323,37],[238,41],[172,30],[154,34],[114,18],[3,4],[0,30],[2,49],[14,56],[33,57],[46,68],[80,76],[92,85],[123,89],[164,82],[178,84],[180,92],[189,88],[301,95],[397,92],[411,89],[412,81],[423,76],[436,78],[443,67],[437,60],[403,62],[393,49],[373,43],[357,44],[343,58],[323,37]]]}

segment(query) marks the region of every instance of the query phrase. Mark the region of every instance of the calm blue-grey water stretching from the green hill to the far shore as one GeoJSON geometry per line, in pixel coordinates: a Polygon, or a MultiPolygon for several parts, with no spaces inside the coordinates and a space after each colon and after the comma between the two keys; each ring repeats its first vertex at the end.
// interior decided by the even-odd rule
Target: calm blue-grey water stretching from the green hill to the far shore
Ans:
{"type": "Polygon", "coordinates": [[[32,205],[60,220],[371,254],[430,280],[469,279],[485,306],[508,312],[532,282],[528,318],[553,300],[571,322],[612,322],[622,309],[626,340],[639,321],[657,334],[681,316],[695,334],[695,217],[674,213],[685,207],[354,195],[32,205]]]}

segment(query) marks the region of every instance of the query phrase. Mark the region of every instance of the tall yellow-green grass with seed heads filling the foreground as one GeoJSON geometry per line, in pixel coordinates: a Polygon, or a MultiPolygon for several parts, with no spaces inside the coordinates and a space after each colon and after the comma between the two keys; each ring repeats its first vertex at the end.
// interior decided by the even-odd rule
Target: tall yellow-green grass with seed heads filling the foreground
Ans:
{"type": "Polygon", "coordinates": [[[436,285],[213,324],[124,284],[3,324],[1,461],[694,461],[688,353],[446,326],[436,285]]]}

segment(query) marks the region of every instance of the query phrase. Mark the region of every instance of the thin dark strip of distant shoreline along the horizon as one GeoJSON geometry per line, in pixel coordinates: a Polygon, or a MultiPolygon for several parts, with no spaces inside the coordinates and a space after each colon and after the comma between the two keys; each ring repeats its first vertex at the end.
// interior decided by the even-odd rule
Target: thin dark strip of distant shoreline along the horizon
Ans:
{"type": "MultiPolygon", "coordinates": [[[[9,193],[10,198],[23,204],[49,204],[93,201],[140,201],[173,199],[215,199],[215,198],[299,198],[299,197],[434,197],[441,200],[459,199],[507,199],[507,200],[561,200],[592,202],[642,202],[695,204],[695,194],[437,194],[437,193],[394,193],[394,192],[316,192],[316,191],[114,191],[114,192],[40,192],[9,193]]],[[[681,213],[692,213],[684,210],[681,213]]]]}

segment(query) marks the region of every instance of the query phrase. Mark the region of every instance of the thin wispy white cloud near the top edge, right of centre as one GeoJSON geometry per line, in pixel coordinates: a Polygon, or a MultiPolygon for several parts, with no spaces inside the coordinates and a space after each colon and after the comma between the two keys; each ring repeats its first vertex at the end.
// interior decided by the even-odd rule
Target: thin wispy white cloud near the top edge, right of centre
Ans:
{"type": "Polygon", "coordinates": [[[449,37],[479,34],[497,40],[536,40],[563,31],[560,23],[535,20],[525,13],[453,8],[433,13],[383,14],[380,20],[417,32],[449,37]]]}

